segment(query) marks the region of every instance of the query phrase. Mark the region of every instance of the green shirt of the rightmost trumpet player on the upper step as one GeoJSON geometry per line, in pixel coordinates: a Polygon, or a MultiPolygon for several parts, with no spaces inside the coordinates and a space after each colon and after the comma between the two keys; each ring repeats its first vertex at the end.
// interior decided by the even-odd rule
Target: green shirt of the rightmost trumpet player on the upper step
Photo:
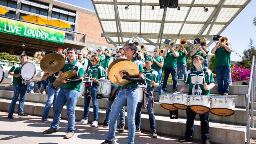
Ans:
{"type": "Polygon", "coordinates": [[[215,56],[216,56],[215,67],[219,67],[219,66],[231,67],[230,54],[231,52],[228,52],[224,47],[217,48],[215,51],[215,56]]]}

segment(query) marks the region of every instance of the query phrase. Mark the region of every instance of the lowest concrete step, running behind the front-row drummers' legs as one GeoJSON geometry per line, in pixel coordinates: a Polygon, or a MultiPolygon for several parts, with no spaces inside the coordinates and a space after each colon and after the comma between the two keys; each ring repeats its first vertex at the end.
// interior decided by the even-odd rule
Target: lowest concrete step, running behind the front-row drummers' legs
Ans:
{"type": "MultiPolygon", "coordinates": [[[[11,100],[9,99],[0,99],[0,110],[8,111],[11,100]]],[[[24,112],[29,115],[38,115],[41,116],[44,110],[44,104],[42,103],[33,103],[25,102],[24,112]]],[[[15,107],[15,112],[18,112],[18,102],[15,107]]],[[[79,121],[83,118],[83,107],[76,107],[76,120],[79,121]]],[[[49,116],[52,116],[52,108],[49,112],[49,116]]],[[[66,107],[63,107],[62,116],[63,119],[67,118],[66,107]]],[[[186,131],[186,119],[172,119],[170,120],[169,116],[155,116],[156,118],[156,128],[157,133],[172,135],[181,138],[186,131]]],[[[90,108],[89,112],[89,121],[93,120],[93,109],[90,108]]],[[[105,110],[99,110],[99,123],[103,123],[105,120],[105,110]]],[[[126,113],[127,121],[127,113],[126,113]]],[[[194,133],[193,138],[200,140],[200,121],[194,121],[194,133]]],[[[125,126],[128,126],[126,122],[125,126]]],[[[141,115],[141,129],[149,131],[149,119],[147,114],[141,115]]],[[[210,136],[211,142],[217,144],[245,144],[246,139],[246,127],[238,125],[227,125],[221,123],[210,122],[210,136]]]]}

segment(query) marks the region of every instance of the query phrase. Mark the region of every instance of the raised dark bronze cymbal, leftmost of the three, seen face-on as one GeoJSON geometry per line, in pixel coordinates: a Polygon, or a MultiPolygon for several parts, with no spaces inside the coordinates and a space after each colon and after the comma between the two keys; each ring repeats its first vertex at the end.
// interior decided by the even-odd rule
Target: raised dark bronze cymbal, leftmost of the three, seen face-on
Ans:
{"type": "Polygon", "coordinates": [[[58,53],[49,53],[42,58],[40,68],[45,73],[56,73],[65,65],[65,58],[58,53]]]}

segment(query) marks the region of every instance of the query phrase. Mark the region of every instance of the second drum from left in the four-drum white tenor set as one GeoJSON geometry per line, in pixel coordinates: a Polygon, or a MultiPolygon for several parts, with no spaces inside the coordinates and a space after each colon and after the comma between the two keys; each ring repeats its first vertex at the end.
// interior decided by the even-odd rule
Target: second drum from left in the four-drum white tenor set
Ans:
{"type": "Polygon", "coordinates": [[[182,110],[188,108],[188,97],[186,94],[175,94],[173,95],[173,106],[182,110]]]}

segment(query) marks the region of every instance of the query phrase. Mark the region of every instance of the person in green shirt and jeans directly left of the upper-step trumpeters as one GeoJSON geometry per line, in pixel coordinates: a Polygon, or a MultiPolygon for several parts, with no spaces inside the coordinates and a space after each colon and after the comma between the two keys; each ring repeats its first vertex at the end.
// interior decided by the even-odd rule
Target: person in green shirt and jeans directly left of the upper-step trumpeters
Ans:
{"type": "Polygon", "coordinates": [[[155,57],[153,58],[152,69],[157,71],[159,77],[159,87],[158,95],[162,95],[162,67],[164,66],[164,58],[160,56],[160,50],[156,47],[153,51],[155,53],[155,57]]]}

